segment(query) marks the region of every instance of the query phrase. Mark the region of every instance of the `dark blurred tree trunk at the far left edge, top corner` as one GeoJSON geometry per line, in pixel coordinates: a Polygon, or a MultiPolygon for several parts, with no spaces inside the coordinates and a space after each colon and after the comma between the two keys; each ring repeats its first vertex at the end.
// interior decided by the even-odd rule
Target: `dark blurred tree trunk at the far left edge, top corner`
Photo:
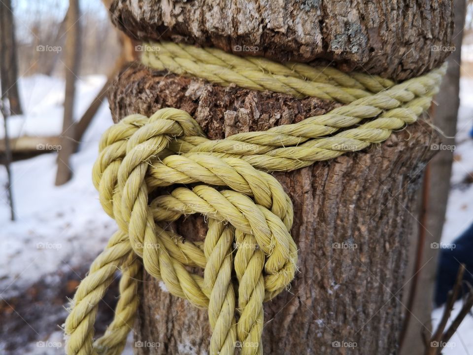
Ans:
{"type": "Polygon", "coordinates": [[[10,114],[23,114],[18,95],[18,58],[11,0],[0,3],[0,77],[1,98],[8,98],[10,114]]]}

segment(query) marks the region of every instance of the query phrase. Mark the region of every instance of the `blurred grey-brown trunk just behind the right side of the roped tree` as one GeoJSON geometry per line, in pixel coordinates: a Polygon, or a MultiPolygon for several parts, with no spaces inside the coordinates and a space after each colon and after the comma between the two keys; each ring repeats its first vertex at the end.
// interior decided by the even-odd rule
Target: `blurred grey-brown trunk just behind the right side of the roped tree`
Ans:
{"type": "MultiPolygon", "coordinates": [[[[419,218],[422,225],[423,240],[417,240],[418,235],[413,235],[412,245],[417,244],[419,253],[418,269],[408,274],[409,281],[415,282],[415,292],[411,304],[407,304],[409,312],[405,312],[405,341],[402,353],[421,354],[424,344],[421,331],[425,331],[428,338],[432,335],[431,314],[433,310],[433,295],[437,275],[437,260],[442,236],[442,227],[445,221],[445,212],[450,191],[450,174],[453,163],[453,150],[457,131],[457,113],[460,105],[460,63],[463,29],[465,26],[466,2],[459,0],[455,4],[455,31],[453,44],[455,51],[448,58],[448,70],[440,87],[441,95],[436,98],[437,105],[433,106],[433,123],[443,132],[441,144],[434,144],[431,148],[438,150],[427,167],[424,179],[423,206],[424,218],[419,218]],[[412,312],[412,314],[410,313],[412,312]],[[422,324],[423,323],[423,324],[422,324]],[[424,328],[424,326],[425,328],[424,328]]],[[[459,230],[460,234],[462,231],[459,230]]],[[[458,264],[460,267],[460,264],[458,264]]],[[[407,287],[411,287],[409,283],[407,287]]]]}

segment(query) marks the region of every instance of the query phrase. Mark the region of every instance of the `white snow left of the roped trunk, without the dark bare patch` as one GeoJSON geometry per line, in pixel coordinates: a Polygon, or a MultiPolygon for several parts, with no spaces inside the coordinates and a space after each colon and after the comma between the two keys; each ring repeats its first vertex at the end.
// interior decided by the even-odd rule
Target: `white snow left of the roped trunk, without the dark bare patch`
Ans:
{"type": "MultiPolygon", "coordinates": [[[[85,111],[104,82],[105,77],[98,76],[78,81],[76,116],[85,111]]],[[[13,135],[60,133],[64,82],[34,75],[20,79],[20,90],[25,114],[12,120],[9,133],[10,127],[13,135]]],[[[111,124],[108,107],[103,104],[80,151],[71,158],[74,176],[63,186],[54,186],[57,153],[12,164],[15,222],[9,220],[6,189],[0,192],[1,297],[14,296],[42,275],[83,265],[106,244],[114,222],[101,209],[91,171],[101,133],[111,124]]],[[[7,183],[4,169],[0,181],[7,183]]]]}

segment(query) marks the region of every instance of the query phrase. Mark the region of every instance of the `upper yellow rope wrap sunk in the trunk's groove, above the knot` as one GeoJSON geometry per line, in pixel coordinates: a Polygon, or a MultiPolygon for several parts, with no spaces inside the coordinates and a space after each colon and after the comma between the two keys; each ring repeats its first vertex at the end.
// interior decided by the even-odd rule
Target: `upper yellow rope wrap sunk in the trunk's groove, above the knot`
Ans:
{"type": "Polygon", "coordinates": [[[237,57],[215,48],[161,41],[144,44],[143,49],[142,63],[157,70],[179,75],[187,73],[224,86],[235,83],[243,88],[268,89],[295,97],[314,96],[349,103],[369,96],[365,89],[378,92],[393,85],[378,76],[362,74],[355,79],[332,68],[297,63],[282,65],[265,58],[237,57]]]}

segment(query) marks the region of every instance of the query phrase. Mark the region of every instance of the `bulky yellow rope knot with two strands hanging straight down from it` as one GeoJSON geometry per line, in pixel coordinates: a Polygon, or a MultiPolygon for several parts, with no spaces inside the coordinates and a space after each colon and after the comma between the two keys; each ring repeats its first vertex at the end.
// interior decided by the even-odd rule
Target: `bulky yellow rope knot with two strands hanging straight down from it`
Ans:
{"type": "MultiPolygon", "coordinates": [[[[289,233],[292,202],[270,174],[236,156],[182,154],[178,139],[208,141],[185,111],[164,108],[149,118],[130,115],[103,134],[93,180],[104,210],[117,221],[120,236],[128,237],[121,251],[142,258],[145,270],[172,294],[208,307],[210,324],[219,335],[212,336],[211,353],[231,354],[237,337],[243,342],[255,333],[261,336],[263,301],[294,278],[297,247],[289,233]],[[191,182],[204,184],[177,187],[148,204],[149,192],[157,187],[191,182]],[[208,220],[203,245],[164,227],[193,213],[208,220]],[[204,269],[203,276],[190,271],[196,266],[204,269]],[[237,286],[231,278],[234,269],[237,286]],[[236,297],[235,288],[241,296],[236,297]],[[240,320],[247,319],[238,325],[237,299],[240,320]]],[[[107,260],[107,267],[111,261],[107,260]]],[[[76,303],[74,310],[78,308],[76,303]]],[[[74,329],[70,332],[76,334],[74,329]]],[[[98,341],[101,349],[110,334],[98,341]]]]}

